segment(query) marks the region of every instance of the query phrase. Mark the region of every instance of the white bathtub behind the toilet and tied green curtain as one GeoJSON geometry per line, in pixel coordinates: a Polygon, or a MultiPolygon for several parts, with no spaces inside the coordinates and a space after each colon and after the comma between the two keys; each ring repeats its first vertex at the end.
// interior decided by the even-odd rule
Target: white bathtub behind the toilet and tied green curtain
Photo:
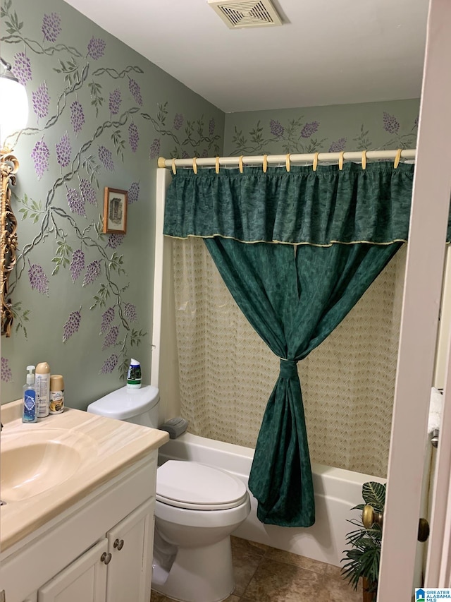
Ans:
{"type": "MultiPolygon", "coordinates": [[[[226,470],[247,486],[254,450],[185,433],[160,447],[159,463],[169,459],[194,460],[226,470]]],[[[234,532],[237,537],[265,543],[307,558],[340,565],[347,548],[345,536],[352,531],[348,519],[358,518],[350,508],[362,503],[362,484],[366,481],[385,483],[385,479],[348,470],[312,464],[316,522],[314,526],[283,527],[263,524],[257,519],[257,500],[252,493],[252,509],[247,520],[234,532]]]]}

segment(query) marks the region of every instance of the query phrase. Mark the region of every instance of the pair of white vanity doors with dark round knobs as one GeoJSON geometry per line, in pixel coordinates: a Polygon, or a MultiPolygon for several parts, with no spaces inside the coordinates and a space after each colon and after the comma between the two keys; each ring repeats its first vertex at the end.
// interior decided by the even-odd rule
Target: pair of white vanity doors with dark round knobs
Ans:
{"type": "Polygon", "coordinates": [[[154,502],[149,500],[37,592],[38,602],[149,602],[154,502]]]}

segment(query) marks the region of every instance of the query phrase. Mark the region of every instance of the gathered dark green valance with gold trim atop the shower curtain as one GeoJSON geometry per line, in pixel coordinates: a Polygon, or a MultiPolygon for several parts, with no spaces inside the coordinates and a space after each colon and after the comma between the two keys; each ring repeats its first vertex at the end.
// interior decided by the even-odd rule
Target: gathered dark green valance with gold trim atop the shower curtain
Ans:
{"type": "Polygon", "coordinates": [[[166,195],[164,234],[317,246],[407,241],[413,178],[413,164],[394,169],[393,162],[266,174],[179,169],[166,195]]]}

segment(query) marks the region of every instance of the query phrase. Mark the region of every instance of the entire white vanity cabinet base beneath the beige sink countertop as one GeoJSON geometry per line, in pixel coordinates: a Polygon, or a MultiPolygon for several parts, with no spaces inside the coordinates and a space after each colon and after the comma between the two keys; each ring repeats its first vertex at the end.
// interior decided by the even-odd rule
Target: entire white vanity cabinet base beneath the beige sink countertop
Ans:
{"type": "Polygon", "coordinates": [[[1,554],[8,602],[149,602],[156,451],[1,554]]]}

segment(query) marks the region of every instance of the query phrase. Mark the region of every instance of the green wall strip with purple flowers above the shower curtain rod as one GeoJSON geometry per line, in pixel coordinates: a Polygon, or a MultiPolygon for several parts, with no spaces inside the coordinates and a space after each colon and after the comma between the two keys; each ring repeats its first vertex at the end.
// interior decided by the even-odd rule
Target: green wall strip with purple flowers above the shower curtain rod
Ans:
{"type": "Polygon", "coordinates": [[[414,148],[419,100],[226,115],[225,155],[414,148]]]}

